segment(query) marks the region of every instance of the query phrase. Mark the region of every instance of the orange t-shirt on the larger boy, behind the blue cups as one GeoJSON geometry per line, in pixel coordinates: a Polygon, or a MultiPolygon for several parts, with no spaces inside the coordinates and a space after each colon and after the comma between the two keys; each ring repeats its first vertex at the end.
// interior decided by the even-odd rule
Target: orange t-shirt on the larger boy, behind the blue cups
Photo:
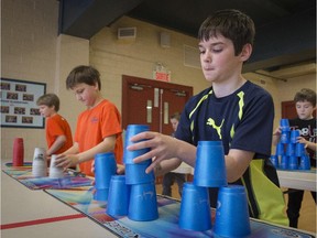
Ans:
{"type": "MultiPolygon", "coordinates": [[[[87,151],[105,138],[117,134],[114,156],[117,163],[122,164],[123,144],[121,116],[117,107],[109,100],[103,99],[95,108],[87,109],[78,116],[75,141],[78,143],[79,152],[87,151]]],[[[92,159],[92,158],[91,158],[92,159]]],[[[80,171],[89,176],[92,160],[79,164],[80,171]]]]}

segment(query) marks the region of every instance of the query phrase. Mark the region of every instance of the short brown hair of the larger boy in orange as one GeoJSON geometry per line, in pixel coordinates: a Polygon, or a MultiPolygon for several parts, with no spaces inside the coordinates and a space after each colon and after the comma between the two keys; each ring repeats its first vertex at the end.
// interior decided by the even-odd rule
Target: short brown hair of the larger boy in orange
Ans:
{"type": "Polygon", "coordinates": [[[91,66],[79,65],[75,67],[66,79],[66,88],[72,89],[77,84],[81,83],[90,86],[97,84],[98,89],[101,89],[100,74],[96,68],[91,66]]]}

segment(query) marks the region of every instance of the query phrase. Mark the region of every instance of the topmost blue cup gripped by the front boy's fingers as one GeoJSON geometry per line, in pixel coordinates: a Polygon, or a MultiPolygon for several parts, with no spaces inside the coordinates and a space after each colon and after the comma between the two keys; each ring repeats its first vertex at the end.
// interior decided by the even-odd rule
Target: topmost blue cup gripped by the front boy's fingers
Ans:
{"type": "MultiPolygon", "coordinates": [[[[128,145],[133,144],[134,142],[131,142],[130,139],[141,132],[149,131],[150,127],[147,125],[128,125],[127,127],[127,132],[125,132],[125,139],[124,139],[124,147],[127,148],[128,145]]],[[[133,164],[133,159],[136,156],[140,156],[144,153],[147,153],[150,151],[150,148],[145,148],[142,150],[135,150],[135,151],[129,151],[124,150],[123,151],[123,162],[124,164],[133,164]]],[[[151,159],[151,158],[150,158],[151,159]]],[[[141,163],[146,163],[141,162],[141,163]]]]}

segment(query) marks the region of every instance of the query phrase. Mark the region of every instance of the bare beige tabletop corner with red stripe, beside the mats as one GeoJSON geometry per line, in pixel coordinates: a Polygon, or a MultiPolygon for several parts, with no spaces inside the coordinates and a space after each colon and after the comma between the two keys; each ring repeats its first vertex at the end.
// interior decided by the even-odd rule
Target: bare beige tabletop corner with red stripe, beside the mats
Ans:
{"type": "Polygon", "coordinates": [[[31,191],[3,172],[0,177],[0,237],[117,237],[83,213],[61,203],[44,191],[31,191]]]}

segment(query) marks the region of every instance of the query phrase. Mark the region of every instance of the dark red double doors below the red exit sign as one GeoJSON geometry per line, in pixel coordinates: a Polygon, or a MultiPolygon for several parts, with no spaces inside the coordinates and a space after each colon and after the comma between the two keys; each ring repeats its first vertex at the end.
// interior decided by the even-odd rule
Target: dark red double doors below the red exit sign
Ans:
{"type": "Polygon", "coordinates": [[[122,127],[140,123],[172,134],[170,117],[182,112],[193,87],[122,75],[122,127]]]}

